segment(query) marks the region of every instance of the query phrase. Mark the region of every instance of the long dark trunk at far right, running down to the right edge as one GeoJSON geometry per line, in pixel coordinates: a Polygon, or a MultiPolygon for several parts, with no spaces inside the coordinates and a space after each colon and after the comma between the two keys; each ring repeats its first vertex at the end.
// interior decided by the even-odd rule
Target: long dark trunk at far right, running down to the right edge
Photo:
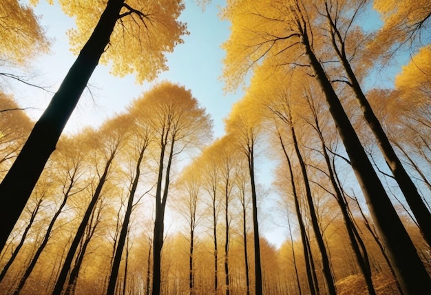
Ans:
{"type": "MultiPolygon", "coordinates": [[[[328,12],[328,10],[326,11],[328,12]]],[[[359,85],[359,81],[357,81],[355,73],[350,66],[350,62],[346,57],[344,40],[339,33],[337,25],[330,17],[329,12],[327,18],[331,28],[331,40],[333,43],[333,48],[335,49],[335,52],[341,61],[341,65],[343,65],[344,70],[346,70],[346,74],[350,82],[349,85],[353,89],[353,92],[355,92],[357,102],[359,103],[361,111],[364,114],[364,119],[368,124],[368,127],[370,127],[372,134],[374,134],[375,139],[377,140],[377,145],[379,146],[379,149],[386,160],[386,164],[388,164],[390,171],[397,181],[401,192],[403,192],[403,195],[406,197],[406,201],[414,214],[414,218],[416,218],[416,221],[419,224],[419,230],[421,230],[425,241],[427,241],[428,245],[431,246],[431,212],[423,202],[417,187],[414,185],[412,179],[407,174],[406,169],[404,169],[397,154],[395,154],[395,150],[392,148],[388,136],[386,136],[385,131],[381,127],[379,119],[377,119],[377,116],[372,111],[370,103],[368,103],[364,92],[362,92],[361,85],[359,85]],[[341,48],[339,48],[339,45],[337,45],[337,41],[341,43],[341,48]]]]}

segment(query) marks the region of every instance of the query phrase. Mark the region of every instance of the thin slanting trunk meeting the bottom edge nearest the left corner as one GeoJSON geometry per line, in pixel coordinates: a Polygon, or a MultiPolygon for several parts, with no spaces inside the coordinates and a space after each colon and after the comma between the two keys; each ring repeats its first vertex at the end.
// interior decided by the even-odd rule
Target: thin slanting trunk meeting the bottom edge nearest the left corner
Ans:
{"type": "Polygon", "coordinates": [[[52,228],[54,227],[54,223],[56,222],[57,218],[59,218],[59,215],[61,214],[61,210],[63,210],[63,207],[66,205],[67,199],[70,196],[70,191],[72,190],[73,185],[74,185],[74,182],[71,181],[69,187],[67,187],[67,190],[63,196],[63,201],[61,202],[59,209],[57,209],[54,216],[52,216],[50,225],[48,225],[48,229],[46,230],[46,234],[43,237],[41,245],[39,245],[39,247],[37,248],[30,262],[30,265],[28,265],[27,269],[25,269],[25,273],[23,274],[21,280],[19,281],[18,287],[15,290],[15,294],[19,294],[19,292],[21,292],[21,289],[23,289],[25,282],[30,277],[30,274],[32,274],[34,266],[36,266],[36,263],[39,260],[39,257],[41,256],[43,250],[45,249],[46,245],[48,245],[48,241],[50,241],[50,236],[51,236],[52,228]]]}

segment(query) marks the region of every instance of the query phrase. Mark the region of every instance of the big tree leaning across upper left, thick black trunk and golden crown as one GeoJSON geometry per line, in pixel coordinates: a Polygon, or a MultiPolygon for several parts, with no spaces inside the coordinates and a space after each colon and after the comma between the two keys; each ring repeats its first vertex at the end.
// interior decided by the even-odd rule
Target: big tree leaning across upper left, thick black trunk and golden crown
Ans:
{"type": "Polygon", "coordinates": [[[187,32],[185,24],[176,20],[184,9],[181,1],[109,0],[88,2],[85,6],[61,1],[61,4],[67,14],[76,17],[78,30],[72,32],[72,43],[77,48],[83,47],[0,184],[1,248],[102,54],[106,52],[102,61],[112,61],[115,74],[124,76],[136,71],[138,81],[151,80],[166,69],[165,52],[174,50],[187,32]],[[109,46],[111,43],[114,46],[109,46]]]}

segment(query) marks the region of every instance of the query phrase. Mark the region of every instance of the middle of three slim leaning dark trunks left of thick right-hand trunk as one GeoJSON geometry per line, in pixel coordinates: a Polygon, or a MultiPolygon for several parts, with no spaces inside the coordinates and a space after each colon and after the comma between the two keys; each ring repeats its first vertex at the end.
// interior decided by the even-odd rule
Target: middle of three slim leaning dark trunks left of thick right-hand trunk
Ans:
{"type": "MultiPolygon", "coordinates": [[[[290,109],[288,110],[288,112],[290,113],[290,109]]],[[[290,114],[289,114],[289,116],[290,116],[290,114]]],[[[304,163],[304,159],[302,158],[302,154],[299,151],[299,145],[298,145],[298,142],[296,139],[295,128],[293,127],[292,122],[290,124],[290,128],[291,128],[291,134],[292,134],[292,139],[293,139],[293,145],[295,147],[295,153],[296,153],[297,159],[299,161],[299,166],[301,167],[302,178],[304,179],[304,185],[305,185],[305,190],[306,190],[306,199],[307,199],[307,203],[308,203],[308,211],[309,211],[309,214],[311,217],[311,225],[313,227],[313,232],[314,232],[314,235],[315,235],[315,238],[317,241],[317,245],[319,246],[320,254],[322,256],[322,267],[323,267],[324,277],[325,277],[325,281],[326,281],[326,291],[328,292],[328,294],[335,295],[335,294],[337,294],[337,291],[335,290],[335,283],[334,283],[333,275],[330,271],[328,253],[326,251],[326,246],[324,243],[322,233],[320,232],[319,221],[317,220],[317,215],[315,212],[315,207],[314,207],[314,203],[313,203],[313,196],[311,195],[311,187],[310,187],[310,183],[308,181],[308,174],[306,171],[306,166],[304,163]]]]}

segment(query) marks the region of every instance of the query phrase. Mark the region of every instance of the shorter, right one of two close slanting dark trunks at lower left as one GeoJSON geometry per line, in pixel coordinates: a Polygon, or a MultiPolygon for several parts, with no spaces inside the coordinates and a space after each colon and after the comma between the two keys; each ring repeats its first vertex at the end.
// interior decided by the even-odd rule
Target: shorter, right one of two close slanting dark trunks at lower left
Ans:
{"type": "Polygon", "coordinates": [[[96,231],[96,227],[100,221],[101,216],[101,207],[98,209],[97,216],[94,219],[93,210],[92,216],[90,218],[90,223],[87,225],[87,233],[85,234],[85,238],[83,239],[83,243],[81,245],[81,249],[78,251],[78,257],[76,258],[76,262],[74,267],[72,267],[72,271],[70,272],[69,281],[67,282],[67,287],[65,291],[65,295],[73,295],[75,293],[76,283],[78,281],[79,271],[81,270],[81,265],[83,264],[85,253],[87,252],[88,244],[90,243],[94,232],[96,231]],[[95,222],[93,225],[93,221],[95,222]]]}

